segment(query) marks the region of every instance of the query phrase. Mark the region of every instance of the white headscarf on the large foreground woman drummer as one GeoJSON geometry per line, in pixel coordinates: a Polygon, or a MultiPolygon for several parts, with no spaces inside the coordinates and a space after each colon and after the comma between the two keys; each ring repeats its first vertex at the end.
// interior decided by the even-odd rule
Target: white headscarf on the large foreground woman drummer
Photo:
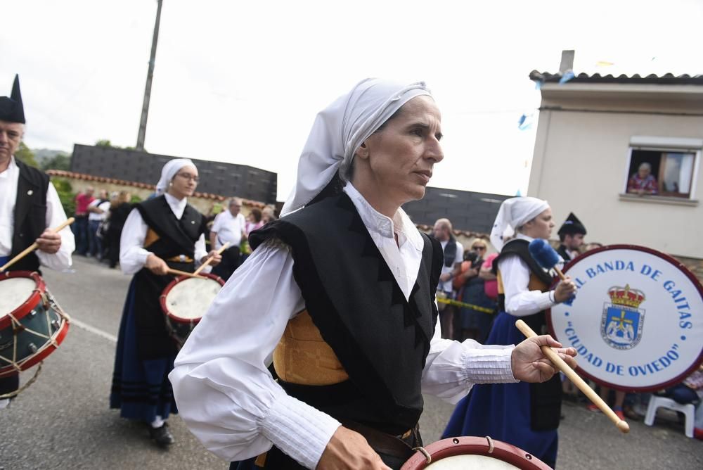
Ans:
{"type": "Polygon", "coordinates": [[[415,96],[430,94],[425,82],[403,84],[378,78],[362,80],[318,113],[298,161],[295,188],[281,215],[302,208],[332,181],[342,162],[388,118],[415,96]]]}

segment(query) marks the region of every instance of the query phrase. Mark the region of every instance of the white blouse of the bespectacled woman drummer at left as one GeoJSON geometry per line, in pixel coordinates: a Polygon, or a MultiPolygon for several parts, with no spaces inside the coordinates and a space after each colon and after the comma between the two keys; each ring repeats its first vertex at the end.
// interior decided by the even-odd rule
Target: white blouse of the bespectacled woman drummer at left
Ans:
{"type": "MultiPolygon", "coordinates": [[[[181,200],[174,198],[169,193],[165,193],[166,202],[169,204],[176,219],[181,220],[183,211],[186,210],[188,199],[181,200]]],[[[146,232],[149,226],[144,222],[138,210],[132,209],[127,216],[127,220],[122,227],[120,236],[120,269],[124,274],[136,274],[139,269],[146,264],[146,258],[152,253],[143,248],[146,240],[146,232]]],[[[200,238],[195,242],[195,265],[200,265],[200,260],[207,255],[205,250],[205,234],[200,234],[200,238]]],[[[209,266],[204,270],[210,269],[209,266]]]]}

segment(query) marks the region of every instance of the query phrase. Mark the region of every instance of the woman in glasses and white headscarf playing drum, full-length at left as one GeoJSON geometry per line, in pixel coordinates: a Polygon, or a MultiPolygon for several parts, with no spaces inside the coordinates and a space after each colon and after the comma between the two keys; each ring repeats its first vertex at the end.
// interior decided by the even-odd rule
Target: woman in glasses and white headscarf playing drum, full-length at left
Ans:
{"type": "MultiPolygon", "coordinates": [[[[134,278],[120,322],[110,407],[120,408],[124,418],[145,422],[160,446],[174,442],[166,420],[177,411],[168,381],[176,343],[168,334],[159,298],[174,279],[169,268],[193,272],[195,260],[207,258],[205,217],[188,204],[197,184],[198,170],[191,160],[166,163],[157,196],[135,206],[120,239],[120,267],[134,278]]],[[[215,256],[210,264],[219,259],[215,256]]]]}

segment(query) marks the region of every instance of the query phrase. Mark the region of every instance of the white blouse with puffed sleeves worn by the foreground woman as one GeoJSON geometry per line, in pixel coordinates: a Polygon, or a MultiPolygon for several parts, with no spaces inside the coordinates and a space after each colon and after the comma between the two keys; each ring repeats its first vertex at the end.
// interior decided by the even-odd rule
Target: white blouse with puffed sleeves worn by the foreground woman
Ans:
{"type": "MultiPolygon", "coordinates": [[[[389,219],[351,184],[344,191],[409,298],[422,258],[422,236],[403,210],[389,219]]],[[[305,307],[292,268],[290,250],[280,243],[254,250],[210,305],[169,374],[186,426],[227,461],[254,457],[276,445],[314,469],[340,426],[328,414],[286,395],[266,368],[286,324],[305,307]]],[[[474,383],[515,382],[512,345],[458,343],[441,339],[439,331],[436,326],[423,393],[455,403],[474,383]]]]}

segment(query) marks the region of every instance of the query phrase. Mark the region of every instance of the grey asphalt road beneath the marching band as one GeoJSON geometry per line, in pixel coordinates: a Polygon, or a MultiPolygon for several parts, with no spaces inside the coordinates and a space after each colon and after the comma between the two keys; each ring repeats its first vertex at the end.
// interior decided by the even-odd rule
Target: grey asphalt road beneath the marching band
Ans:
{"type": "MultiPolygon", "coordinates": [[[[183,426],[170,420],[177,443],[160,450],[140,424],[108,409],[108,393],[129,277],[94,260],[77,258],[75,272],[46,271],[46,283],[75,322],[39,380],[0,411],[0,470],[220,469],[183,426]]],[[[22,374],[22,380],[32,372],[22,374]]],[[[439,438],[453,408],[426,397],[421,427],[426,442],[439,438]]],[[[631,422],[621,435],[599,413],[566,403],[560,427],[561,469],[702,469],[703,443],[685,438],[676,416],[660,412],[655,426],[631,422]]]]}

